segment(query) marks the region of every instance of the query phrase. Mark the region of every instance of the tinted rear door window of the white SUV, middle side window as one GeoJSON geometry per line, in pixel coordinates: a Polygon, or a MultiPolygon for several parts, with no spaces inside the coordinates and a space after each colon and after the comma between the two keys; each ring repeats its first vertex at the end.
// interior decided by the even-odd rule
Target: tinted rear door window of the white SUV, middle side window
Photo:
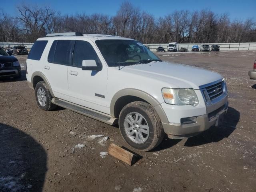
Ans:
{"type": "Polygon", "coordinates": [[[72,40],[55,40],[48,55],[48,62],[69,65],[72,40]]]}

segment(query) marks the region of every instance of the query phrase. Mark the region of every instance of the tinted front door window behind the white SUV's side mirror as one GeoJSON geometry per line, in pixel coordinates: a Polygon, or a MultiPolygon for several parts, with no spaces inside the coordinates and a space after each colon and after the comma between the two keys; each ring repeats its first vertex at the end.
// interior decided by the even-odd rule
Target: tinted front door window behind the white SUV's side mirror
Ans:
{"type": "Polygon", "coordinates": [[[98,58],[92,45],[86,41],[76,41],[73,52],[73,66],[82,67],[83,60],[95,60],[100,65],[98,58]]]}

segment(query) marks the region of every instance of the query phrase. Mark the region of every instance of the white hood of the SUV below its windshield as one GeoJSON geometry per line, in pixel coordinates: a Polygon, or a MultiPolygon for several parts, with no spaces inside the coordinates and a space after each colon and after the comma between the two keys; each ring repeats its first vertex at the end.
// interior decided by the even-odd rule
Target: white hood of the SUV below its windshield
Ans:
{"type": "Polygon", "coordinates": [[[222,79],[216,72],[171,62],[150,62],[125,66],[121,70],[154,78],[170,84],[170,88],[193,88],[222,79]]]}

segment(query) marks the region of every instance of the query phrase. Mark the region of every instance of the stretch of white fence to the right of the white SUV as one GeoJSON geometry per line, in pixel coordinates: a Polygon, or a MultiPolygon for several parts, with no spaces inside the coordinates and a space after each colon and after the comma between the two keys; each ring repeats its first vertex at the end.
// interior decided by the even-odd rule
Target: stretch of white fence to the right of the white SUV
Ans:
{"type": "MultiPolygon", "coordinates": [[[[204,43],[202,43],[204,44],[204,43]]],[[[205,43],[207,45],[218,45],[220,47],[220,51],[233,51],[233,50],[256,50],[256,43],[205,43]]],[[[156,49],[161,46],[164,47],[164,49],[167,51],[168,48],[168,43],[166,44],[144,44],[146,46],[148,46],[148,48],[151,51],[156,51],[156,49]]],[[[180,50],[180,48],[184,47],[187,48],[188,51],[192,50],[192,46],[193,45],[198,45],[200,47],[200,44],[178,44],[178,50],[180,50]]]]}

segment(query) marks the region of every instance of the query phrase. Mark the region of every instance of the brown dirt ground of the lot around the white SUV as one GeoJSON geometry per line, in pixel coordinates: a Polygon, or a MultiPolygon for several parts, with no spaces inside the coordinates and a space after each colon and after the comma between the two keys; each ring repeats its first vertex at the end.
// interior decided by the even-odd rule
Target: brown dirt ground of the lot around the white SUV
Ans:
{"type": "Polygon", "coordinates": [[[165,138],[133,166],[106,152],[110,142],[130,150],[118,126],[58,108],[40,110],[25,77],[0,80],[0,191],[255,192],[256,51],[160,53],[162,60],[216,71],[226,78],[228,114],[221,127],[183,140],[165,138]],[[87,141],[87,136],[108,136],[87,141]],[[85,144],[83,148],[75,148],[85,144]],[[156,154],[153,154],[156,153],[156,154]],[[136,191],[136,190],[135,190],[136,191]]]}

